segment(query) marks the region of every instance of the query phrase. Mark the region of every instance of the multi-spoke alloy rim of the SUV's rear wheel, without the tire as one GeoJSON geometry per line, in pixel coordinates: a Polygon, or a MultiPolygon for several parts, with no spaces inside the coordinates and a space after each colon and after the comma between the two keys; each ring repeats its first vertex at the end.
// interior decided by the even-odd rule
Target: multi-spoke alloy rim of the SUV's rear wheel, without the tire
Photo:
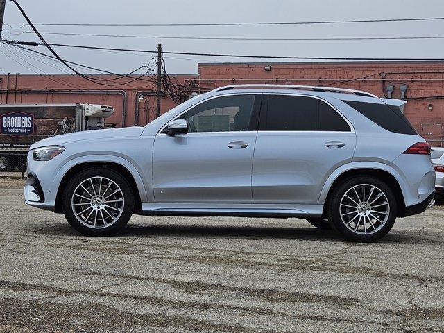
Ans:
{"type": "Polygon", "coordinates": [[[384,191],[370,184],[348,189],[341,198],[339,214],[344,225],[357,234],[373,234],[388,221],[390,204],[384,191]]]}

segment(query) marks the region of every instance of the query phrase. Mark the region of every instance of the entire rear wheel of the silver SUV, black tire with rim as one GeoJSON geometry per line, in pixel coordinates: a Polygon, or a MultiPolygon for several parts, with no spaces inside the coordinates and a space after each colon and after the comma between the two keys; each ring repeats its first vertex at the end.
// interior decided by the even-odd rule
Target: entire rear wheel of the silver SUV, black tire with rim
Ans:
{"type": "Polygon", "coordinates": [[[393,227],[398,212],[391,188],[372,176],[348,178],[334,189],[329,202],[328,219],[348,241],[381,239],[393,227]]]}

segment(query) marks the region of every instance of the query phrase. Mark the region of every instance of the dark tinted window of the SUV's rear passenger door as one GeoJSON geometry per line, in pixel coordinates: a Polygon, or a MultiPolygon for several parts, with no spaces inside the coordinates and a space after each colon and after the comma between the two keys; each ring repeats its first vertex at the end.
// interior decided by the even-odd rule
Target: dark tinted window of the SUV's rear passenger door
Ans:
{"type": "Polygon", "coordinates": [[[310,97],[282,95],[268,95],[266,119],[261,129],[350,132],[348,123],[327,103],[310,97]]]}

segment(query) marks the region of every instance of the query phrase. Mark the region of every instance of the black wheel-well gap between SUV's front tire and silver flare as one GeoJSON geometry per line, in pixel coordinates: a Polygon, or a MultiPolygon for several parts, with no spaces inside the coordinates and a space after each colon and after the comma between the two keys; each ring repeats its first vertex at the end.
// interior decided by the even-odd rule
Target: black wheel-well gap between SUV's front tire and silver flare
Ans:
{"type": "MultiPolygon", "coordinates": [[[[72,176],[74,176],[79,171],[92,168],[92,167],[100,167],[100,168],[106,168],[113,171],[116,171],[121,176],[123,176],[128,183],[130,184],[131,189],[133,189],[134,198],[135,198],[135,205],[134,205],[134,212],[136,214],[139,214],[142,212],[142,199],[145,198],[145,195],[142,193],[141,196],[141,186],[143,185],[137,185],[136,179],[134,174],[123,164],[120,164],[118,162],[114,161],[88,161],[88,162],[79,162],[78,164],[74,164],[74,166],[71,166],[63,175],[62,179],[60,180],[60,184],[58,185],[58,190],[56,194],[56,203],[54,205],[54,212],[56,213],[62,213],[62,195],[63,195],[63,189],[65,188],[65,185],[71,179],[72,176]]],[[[139,174],[137,173],[137,176],[139,174]]],[[[140,178],[140,176],[138,177],[140,178]]],[[[142,181],[142,178],[138,179],[138,181],[142,181]]]]}

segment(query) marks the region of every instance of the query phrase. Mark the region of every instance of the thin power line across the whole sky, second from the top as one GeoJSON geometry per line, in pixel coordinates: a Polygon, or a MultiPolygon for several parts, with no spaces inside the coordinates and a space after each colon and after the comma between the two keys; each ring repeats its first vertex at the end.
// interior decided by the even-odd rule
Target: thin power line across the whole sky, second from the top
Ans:
{"type": "MultiPolygon", "coordinates": [[[[11,31],[4,31],[11,33],[11,31]]],[[[24,33],[33,33],[33,31],[22,31],[14,33],[14,35],[22,35],[24,33]]],[[[44,35],[61,35],[61,36],[83,36],[83,37],[114,37],[114,38],[143,38],[143,39],[171,39],[171,40],[438,40],[444,36],[398,36],[398,37],[191,37],[191,36],[142,36],[142,35],[106,35],[96,33],[51,33],[43,32],[44,35]]]]}

